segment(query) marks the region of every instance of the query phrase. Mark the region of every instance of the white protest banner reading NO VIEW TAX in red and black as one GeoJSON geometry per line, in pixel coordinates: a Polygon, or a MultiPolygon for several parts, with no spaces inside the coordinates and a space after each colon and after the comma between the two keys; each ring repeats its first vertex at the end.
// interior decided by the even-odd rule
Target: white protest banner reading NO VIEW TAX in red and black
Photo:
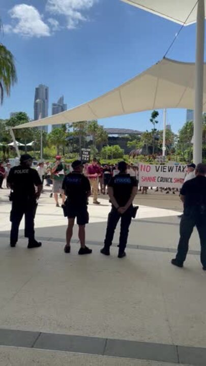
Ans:
{"type": "Polygon", "coordinates": [[[140,187],[181,188],[187,165],[152,165],[139,163],[140,187]]]}

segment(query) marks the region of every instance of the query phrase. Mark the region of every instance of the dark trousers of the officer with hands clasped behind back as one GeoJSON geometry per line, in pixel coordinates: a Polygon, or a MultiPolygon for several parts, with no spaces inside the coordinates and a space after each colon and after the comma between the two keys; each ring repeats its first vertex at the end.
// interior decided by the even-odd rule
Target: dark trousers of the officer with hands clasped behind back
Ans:
{"type": "Polygon", "coordinates": [[[132,221],[133,206],[131,205],[123,215],[119,214],[117,209],[112,206],[111,211],[108,215],[106,237],[104,240],[104,247],[109,248],[112,245],[112,240],[114,237],[114,231],[116,225],[121,218],[121,228],[120,228],[120,252],[124,252],[127,245],[127,238],[129,234],[129,227],[132,221]]]}

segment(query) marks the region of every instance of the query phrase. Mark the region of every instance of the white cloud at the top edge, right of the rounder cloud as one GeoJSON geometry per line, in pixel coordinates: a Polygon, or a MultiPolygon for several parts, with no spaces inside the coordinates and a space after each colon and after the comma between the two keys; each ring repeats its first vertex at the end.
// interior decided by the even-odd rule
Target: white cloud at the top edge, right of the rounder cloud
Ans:
{"type": "Polygon", "coordinates": [[[65,15],[67,27],[76,28],[80,21],[87,20],[84,11],[89,10],[98,0],[47,0],[46,10],[51,14],[65,15]]]}

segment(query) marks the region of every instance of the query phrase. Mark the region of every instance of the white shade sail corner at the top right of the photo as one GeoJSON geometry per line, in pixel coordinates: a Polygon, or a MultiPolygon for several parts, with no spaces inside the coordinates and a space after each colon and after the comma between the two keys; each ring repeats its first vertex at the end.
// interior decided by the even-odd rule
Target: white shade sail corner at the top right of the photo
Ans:
{"type": "MultiPolygon", "coordinates": [[[[122,0],[137,8],[149,11],[176,23],[189,25],[196,22],[197,0],[122,0]],[[194,8],[195,7],[195,8],[194,8]],[[191,15],[188,18],[188,15],[191,15]],[[188,19],[187,19],[188,18],[188,19]],[[186,20],[187,19],[187,20],[186,20]]],[[[206,0],[204,0],[206,9],[206,0]]]]}

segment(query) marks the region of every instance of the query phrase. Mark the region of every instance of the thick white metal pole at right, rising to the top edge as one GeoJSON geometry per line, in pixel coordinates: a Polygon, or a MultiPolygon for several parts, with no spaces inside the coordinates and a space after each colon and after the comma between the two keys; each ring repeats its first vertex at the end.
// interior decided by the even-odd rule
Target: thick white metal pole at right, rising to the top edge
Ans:
{"type": "Polygon", "coordinates": [[[202,162],[202,112],[203,112],[203,76],[204,76],[204,0],[197,5],[196,25],[196,66],[195,66],[195,113],[193,161],[202,162]]]}

